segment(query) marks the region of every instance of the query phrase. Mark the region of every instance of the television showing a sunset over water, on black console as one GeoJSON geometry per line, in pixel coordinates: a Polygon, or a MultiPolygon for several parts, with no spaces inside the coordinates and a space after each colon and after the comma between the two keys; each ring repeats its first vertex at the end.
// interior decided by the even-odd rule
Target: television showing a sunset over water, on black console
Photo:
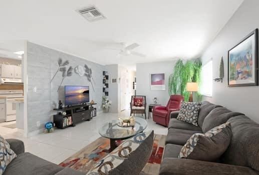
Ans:
{"type": "Polygon", "coordinates": [[[65,85],[65,105],[89,102],[89,86],[65,85]]]}

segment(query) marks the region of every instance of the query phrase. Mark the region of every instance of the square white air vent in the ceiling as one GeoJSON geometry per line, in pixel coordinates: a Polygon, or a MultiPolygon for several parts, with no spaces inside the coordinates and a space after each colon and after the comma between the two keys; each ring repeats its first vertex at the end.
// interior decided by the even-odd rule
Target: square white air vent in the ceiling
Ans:
{"type": "Polygon", "coordinates": [[[91,22],[105,19],[104,15],[95,6],[89,6],[86,8],[78,9],[76,11],[91,22]]]}

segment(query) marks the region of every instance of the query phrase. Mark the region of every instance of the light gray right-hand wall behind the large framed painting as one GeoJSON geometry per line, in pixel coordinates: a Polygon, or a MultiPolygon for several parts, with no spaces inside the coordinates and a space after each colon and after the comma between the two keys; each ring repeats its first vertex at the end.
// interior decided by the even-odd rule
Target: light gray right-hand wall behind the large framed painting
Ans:
{"type": "Polygon", "coordinates": [[[244,0],[201,56],[203,62],[212,57],[213,78],[219,76],[221,56],[224,60],[223,83],[213,82],[212,97],[204,97],[204,99],[223,105],[230,110],[245,113],[256,122],[259,122],[259,87],[227,86],[227,51],[252,30],[259,28],[258,10],[259,0],[244,0]]]}

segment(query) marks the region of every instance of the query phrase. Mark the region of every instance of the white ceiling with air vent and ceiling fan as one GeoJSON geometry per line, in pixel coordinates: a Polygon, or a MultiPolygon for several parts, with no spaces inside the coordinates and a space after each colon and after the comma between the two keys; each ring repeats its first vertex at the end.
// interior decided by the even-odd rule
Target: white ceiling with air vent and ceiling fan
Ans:
{"type": "Polygon", "coordinates": [[[101,64],[194,58],[242,1],[2,0],[0,38],[28,39],[101,64]],[[89,22],[75,11],[89,5],[107,19],[89,22]],[[137,42],[134,51],[147,56],[117,57],[118,51],[106,49],[119,42],[137,42]]]}

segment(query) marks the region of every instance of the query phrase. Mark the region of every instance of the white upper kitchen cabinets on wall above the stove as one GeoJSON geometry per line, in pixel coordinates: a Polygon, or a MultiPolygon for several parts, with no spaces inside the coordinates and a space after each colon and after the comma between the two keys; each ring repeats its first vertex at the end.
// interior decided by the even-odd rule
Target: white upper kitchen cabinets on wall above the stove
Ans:
{"type": "Polygon", "coordinates": [[[18,65],[2,64],[1,66],[2,78],[22,78],[22,67],[18,65]]]}

